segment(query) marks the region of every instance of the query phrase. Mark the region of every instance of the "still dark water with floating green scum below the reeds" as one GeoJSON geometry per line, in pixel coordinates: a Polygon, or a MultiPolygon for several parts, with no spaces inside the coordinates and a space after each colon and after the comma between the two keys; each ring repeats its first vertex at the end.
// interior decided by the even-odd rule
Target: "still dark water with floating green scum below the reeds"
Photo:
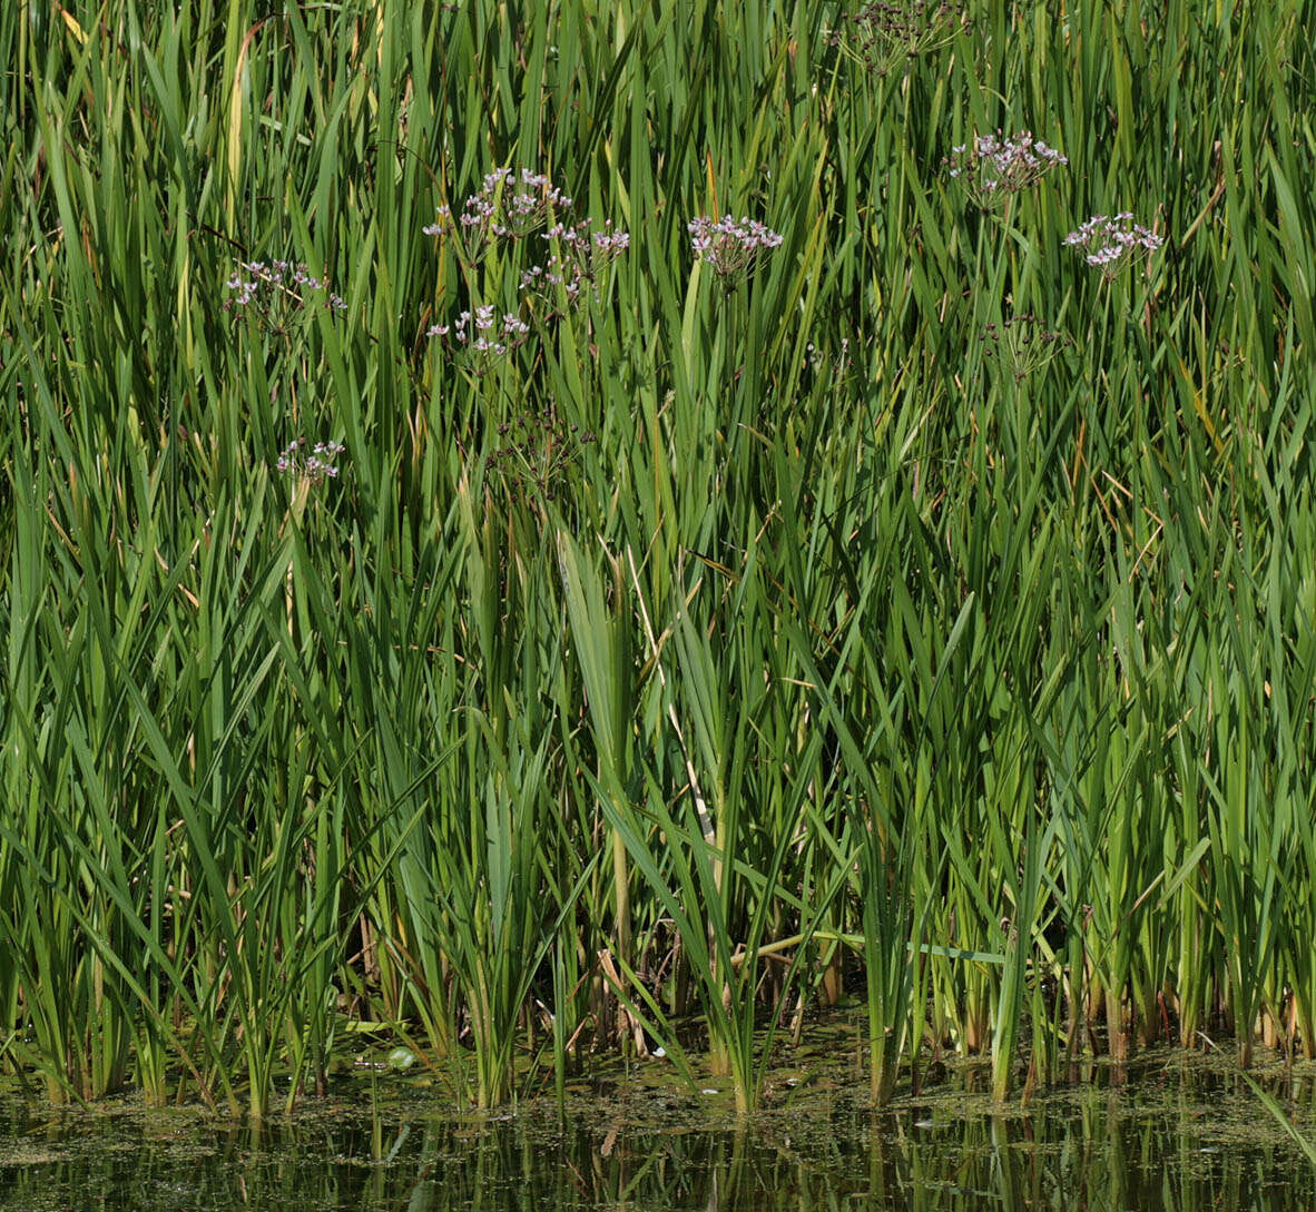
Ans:
{"type": "MultiPolygon", "coordinates": [[[[397,1082],[263,1132],[132,1100],[66,1113],[0,1100],[0,1208],[1316,1208],[1311,1166],[1224,1070],[1166,1053],[1005,1115],[974,1084],[957,1073],[874,1116],[858,1083],[787,1079],[742,1129],[720,1095],[641,1074],[561,1112],[549,1101],[455,1121],[397,1082]]],[[[1273,1088],[1309,1136],[1309,1079],[1273,1088]]]]}

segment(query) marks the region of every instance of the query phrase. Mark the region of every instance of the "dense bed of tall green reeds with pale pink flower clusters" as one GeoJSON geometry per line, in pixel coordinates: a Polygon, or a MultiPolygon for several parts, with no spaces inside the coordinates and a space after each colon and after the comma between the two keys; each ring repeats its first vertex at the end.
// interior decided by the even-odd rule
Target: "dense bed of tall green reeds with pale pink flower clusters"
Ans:
{"type": "Polygon", "coordinates": [[[0,1066],[1316,1054],[1316,12],[904,9],[0,11],[0,1066]]]}

